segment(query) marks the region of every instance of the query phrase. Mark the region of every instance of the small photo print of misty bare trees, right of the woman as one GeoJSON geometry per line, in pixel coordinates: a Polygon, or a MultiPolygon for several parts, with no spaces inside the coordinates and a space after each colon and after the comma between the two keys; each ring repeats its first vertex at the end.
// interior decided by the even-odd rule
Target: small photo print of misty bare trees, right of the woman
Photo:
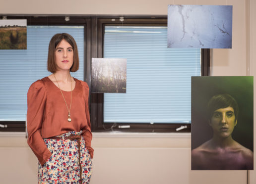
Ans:
{"type": "Polygon", "coordinates": [[[126,93],[127,59],[92,58],[91,92],[126,93]]]}

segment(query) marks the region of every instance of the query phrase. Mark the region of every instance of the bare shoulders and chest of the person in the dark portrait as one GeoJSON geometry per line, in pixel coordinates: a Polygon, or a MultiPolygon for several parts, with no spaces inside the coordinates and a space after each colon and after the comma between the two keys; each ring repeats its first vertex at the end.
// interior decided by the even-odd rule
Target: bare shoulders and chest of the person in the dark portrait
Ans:
{"type": "Polygon", "coordinates": [[[234,141],[213,147],[211,140],[192,150],[192,170],[253,170],[253,152],[234,141]]]}

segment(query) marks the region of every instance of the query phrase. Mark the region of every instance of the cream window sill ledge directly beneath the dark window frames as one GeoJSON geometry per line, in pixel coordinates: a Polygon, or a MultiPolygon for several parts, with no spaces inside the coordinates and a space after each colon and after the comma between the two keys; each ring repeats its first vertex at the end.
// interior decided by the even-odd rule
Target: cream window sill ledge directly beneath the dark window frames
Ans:
{"type": "MultiPolygon", "coordinates": [[[[190,148],[191,133],[93,132],[93,148],[190,148]]],[[[25,132],[0,132],[0,147],[28,147],[25,132]]]]}

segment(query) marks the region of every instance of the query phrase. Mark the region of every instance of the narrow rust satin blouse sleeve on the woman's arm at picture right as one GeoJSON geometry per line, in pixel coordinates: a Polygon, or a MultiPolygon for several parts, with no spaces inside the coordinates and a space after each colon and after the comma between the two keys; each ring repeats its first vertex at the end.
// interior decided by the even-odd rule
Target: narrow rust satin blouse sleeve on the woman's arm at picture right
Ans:
{"type": "Polygon", "coordinates": [[[92,132],[91,132],[91,122],[90,122],[90,113],[89,113],[89,87],[86,82],[82,82],[83,89],[84,89],[84,95],[85,95],[85,114],[86,114],[86,120],[87,120],[87,126],[84,126],[82,129],[82,136],[85,139],[85,145],[87,149],[89,150],[89,153],[91,155],[91,158],[93,158],[93,148],[91,147],[91,141],[92,141],[92,132]]]}

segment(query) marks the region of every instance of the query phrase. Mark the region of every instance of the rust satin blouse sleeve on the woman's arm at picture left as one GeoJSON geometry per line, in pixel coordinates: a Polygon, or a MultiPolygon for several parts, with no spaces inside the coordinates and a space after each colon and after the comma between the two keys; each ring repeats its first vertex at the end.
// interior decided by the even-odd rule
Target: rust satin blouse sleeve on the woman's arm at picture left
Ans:
{"type": "Polygon", "coordinates": [[[41,136],[45,102],[45,87],[43,81],[38,80],[30,86],[27,93],[27,142],[41,165],[52,155],[41,136]]]}

